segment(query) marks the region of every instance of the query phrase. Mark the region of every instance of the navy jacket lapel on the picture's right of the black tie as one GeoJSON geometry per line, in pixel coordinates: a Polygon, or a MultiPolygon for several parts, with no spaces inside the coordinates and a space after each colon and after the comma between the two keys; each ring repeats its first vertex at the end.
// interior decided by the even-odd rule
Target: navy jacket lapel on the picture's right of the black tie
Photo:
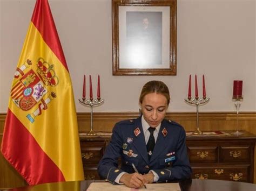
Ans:
{"type": "MultiPolygon", "coordinates": [[[[160,130],[159,130],[159,133],[158,133],[158,137],[157,137],[157,142],[156,142],[156,145],[154,146],[154,151],[152,153],[152,156],[151,156],[151,159],[150,161],[153,161],[154,159],[156,159],[158,157],[159,154],[161,154],[161,152],[163,152],[163,150],[165,150],[165,146],[166,145],[166,137],[164,137],[162,131],[165,127],[165,123],[166,121],[163,120],[162,123],[161,123],[161,126],[160,126],[160,130]]],[[[170,132],[168,132],[170,133],[170,132]]]]}

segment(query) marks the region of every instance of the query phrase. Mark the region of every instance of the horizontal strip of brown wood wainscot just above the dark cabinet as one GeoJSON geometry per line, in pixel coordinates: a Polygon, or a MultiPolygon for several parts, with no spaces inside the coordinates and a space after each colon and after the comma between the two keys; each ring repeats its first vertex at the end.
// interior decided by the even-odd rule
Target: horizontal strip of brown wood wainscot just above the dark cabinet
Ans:
{"type": "MultiPolygon", "coordinates": [[[[137,118],[138,112],[95,112],[93,114],[93,130],[111,132],[114,124],[125,119],[137,118]]],[[[0,135],[3,133],[6,114],[0,114],[0,135]]],[[[168,112],[167,119],[171,119],[184,126],[186,131],[196,128],[195,112],[168,112]]],[[[201,112],[199,114],[199,128],[201,130],[233,130],[237,115],[235,112],[201,112]]],[[[78,112],[77,121],[79,132],[90,130],[90,112],[78,112]]],[[[255,133],[256,112],[241,112],[239,114],[241,129],[255,133]]]]}

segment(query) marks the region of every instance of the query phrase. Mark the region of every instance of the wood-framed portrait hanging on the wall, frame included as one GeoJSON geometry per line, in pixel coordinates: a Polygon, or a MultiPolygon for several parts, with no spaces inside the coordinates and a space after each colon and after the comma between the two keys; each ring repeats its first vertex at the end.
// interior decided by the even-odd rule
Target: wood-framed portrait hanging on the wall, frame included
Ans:
{"type": "Polygon", "coordinates": [[[177,74],[177,0],[112,0],[113,75],[177,74]]]}

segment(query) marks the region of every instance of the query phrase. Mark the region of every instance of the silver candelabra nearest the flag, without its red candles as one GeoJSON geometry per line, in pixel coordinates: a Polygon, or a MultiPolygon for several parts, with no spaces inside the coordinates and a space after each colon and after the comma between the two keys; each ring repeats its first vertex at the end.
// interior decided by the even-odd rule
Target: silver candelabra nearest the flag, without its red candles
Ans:
{"type": "Polygon", "coordinates": [[[87,132],[87,135],[89,136],[96,136],[97,134],[93,131],[93,107],[95,107],[96,105],[102,104],[104,102],[104,99],[93,99],[93,98],[89,98],[87,100],[85,100],[84,98],[79,99],[79,103],[86,106],[86,107],[91,107],[91,130],[89,132],[87,132]]]}

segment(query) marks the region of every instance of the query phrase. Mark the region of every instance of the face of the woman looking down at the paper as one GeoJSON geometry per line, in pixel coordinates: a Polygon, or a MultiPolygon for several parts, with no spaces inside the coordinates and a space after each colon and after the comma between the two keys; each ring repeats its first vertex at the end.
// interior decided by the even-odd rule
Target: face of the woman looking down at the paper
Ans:
{"type": "Polygon", "coordinates": [[[142,113],[151,128],[156,128],[163,121],[167,108],[167,99],[164,95],[150,93],[143,98],[142,113]]]}

